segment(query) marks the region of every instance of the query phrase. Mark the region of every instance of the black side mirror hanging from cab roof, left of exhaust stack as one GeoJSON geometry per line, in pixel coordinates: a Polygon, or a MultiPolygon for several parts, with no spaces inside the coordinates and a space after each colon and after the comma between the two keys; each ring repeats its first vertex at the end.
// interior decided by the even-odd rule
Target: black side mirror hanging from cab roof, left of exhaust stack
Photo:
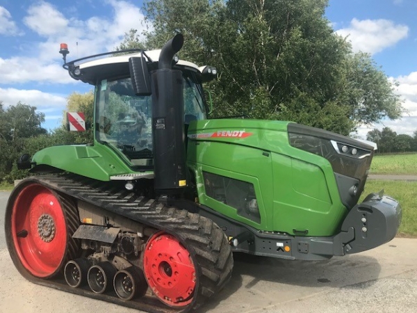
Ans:
{"type": "Polygon", "coordinates": [[[143,56],[129,58],[129,71],[135,94],[139,96],[152,95],[151,79],[145,58],[143,56]]]}

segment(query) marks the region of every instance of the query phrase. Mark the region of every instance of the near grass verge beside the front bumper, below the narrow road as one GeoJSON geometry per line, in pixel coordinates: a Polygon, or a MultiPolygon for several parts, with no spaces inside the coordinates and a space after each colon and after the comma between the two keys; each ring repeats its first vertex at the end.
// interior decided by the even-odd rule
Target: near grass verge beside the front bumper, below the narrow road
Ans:
{"type": "Polygon", "coordinates": [[[361,202],[366,195],[384,189],[402,207],[402,222],[397,236],[417,237],[417,182],[369,180],[366,182],[361,202]]]}

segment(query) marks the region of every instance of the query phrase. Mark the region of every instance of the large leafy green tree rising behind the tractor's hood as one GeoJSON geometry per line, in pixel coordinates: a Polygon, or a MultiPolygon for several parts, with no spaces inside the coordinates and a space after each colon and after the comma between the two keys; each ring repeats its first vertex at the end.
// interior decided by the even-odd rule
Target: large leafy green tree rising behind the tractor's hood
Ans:
{"type": "Polygon", "coordinates": [[[393,86],[367,54],[353,54],[324,17],[327,0],[148,0],[148,47],[174,33],[181,58],[220,70],[207,87],[215,116],[303,122],[349,134],[400,116],[393,86]]]}

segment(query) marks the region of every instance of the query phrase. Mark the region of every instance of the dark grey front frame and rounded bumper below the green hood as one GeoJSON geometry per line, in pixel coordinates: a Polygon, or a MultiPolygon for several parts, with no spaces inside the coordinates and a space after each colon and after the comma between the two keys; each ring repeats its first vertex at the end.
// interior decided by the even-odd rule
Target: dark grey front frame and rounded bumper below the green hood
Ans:
{"type": "Polygon", "coordinates": [[[382,193],[371,193],[355,205],[335,236],[291,236],[262,232],[243,225],[204,206],[199,214],[211,218],[229,236],[234,252],[245,252],[281,259],[319,261],[333,256],[362,252],[391,241],[400,227],[400,204],[382,193]]]}

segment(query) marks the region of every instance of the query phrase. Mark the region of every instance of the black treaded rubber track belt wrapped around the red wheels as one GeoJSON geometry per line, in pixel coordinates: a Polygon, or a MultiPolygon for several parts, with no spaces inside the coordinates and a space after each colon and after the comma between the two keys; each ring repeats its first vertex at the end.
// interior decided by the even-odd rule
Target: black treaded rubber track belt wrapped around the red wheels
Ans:
{"type": "MultiPolygon", "coordinates": [[[[112,294],[95,294],[87,288],[69,287],[63,277],[55,280],[41,280],[22,273],[31,282],[69,291],[73,294],[106,300],[137,310],[160,313],[189,312],[197,309],[206,302],[207,298],[220,291],[231,277],[233,256],[227,237],[218,225],[204,216],[183,209],[167,207],[161,202],[138,196],[120,186],[117,187],[114,182],[99,182],[78,175],[33,176],[24,179],[20,184],[27,182],[37,182],[56,191],[65,203],[64,207],[70,209],[70,211],[74,205],[70,205],[68,202],[72,202],[70,197],[73,197],[173,234],[182,241],[190,252],[197,271],[193,302],[181,308],[168,307],[155,296],[149,295],[149,291],[142,298],[124,301],[117,298],[114,292],[112,294]]],[[[68,224],[76,225],[76,223],[79,223],[74,220],[73,214],[70,213],[67,216],[71,216],[68,224]]],[[[69,255],[76,253],[76,247],[72,247],[72,249],[74,250],[69,255]]]]}

